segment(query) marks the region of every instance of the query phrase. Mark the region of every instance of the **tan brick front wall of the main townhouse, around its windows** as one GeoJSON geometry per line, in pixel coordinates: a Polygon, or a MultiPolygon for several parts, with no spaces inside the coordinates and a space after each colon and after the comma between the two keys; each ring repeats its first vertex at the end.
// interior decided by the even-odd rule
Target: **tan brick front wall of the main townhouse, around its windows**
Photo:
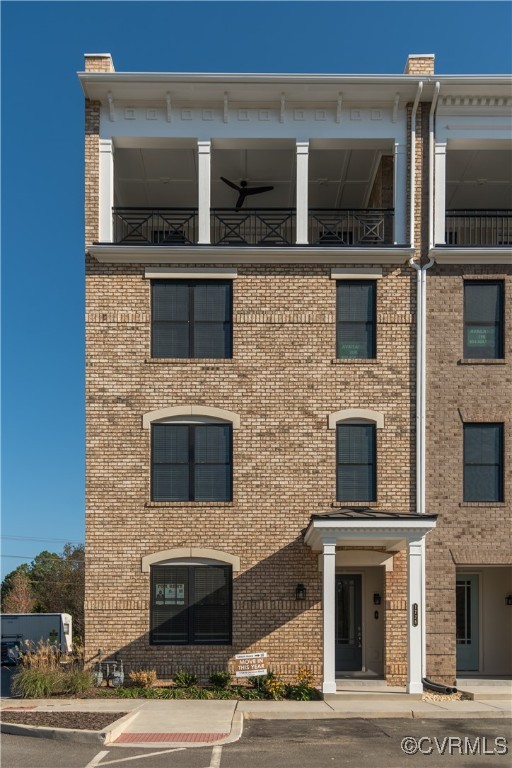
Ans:
{"type": "Polygon", "coordinates": [[[121,649],[128,664],[155,664],[168,676],[196,669],[199,659],[206,673],[237,652],[262,649],[281,673],[306,664],[320,675],[321,576],[301,531],[312,513],[338,506],[328,414],[345,407],[384,413],[376,508],[414,505],[414,275],[400,265],[384,268],[378,359],[345,363],[334,360],[329,265],[239,266],[233,360],[182,364],[149,360],[150,282],[143,274],[142,266],[88,265],[88,654],[121,649]],[[142,414],[186,403],[240,414],[231,503],[150,504],[142,414]],[[233,646],[150,647],[141,557],[192,545],[241,557],[233,646]],[[305,604],[294,599],[298,582],[308,590],[305,604]]]}

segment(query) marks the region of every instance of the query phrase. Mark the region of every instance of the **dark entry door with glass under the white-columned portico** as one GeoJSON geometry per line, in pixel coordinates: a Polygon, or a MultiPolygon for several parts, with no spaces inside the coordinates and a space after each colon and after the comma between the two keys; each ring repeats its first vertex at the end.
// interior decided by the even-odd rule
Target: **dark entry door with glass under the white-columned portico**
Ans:
{"type": "Polygon", "coordinates": [[[336,574],[336,672],[363,666],[361,576],[336,574]]]}

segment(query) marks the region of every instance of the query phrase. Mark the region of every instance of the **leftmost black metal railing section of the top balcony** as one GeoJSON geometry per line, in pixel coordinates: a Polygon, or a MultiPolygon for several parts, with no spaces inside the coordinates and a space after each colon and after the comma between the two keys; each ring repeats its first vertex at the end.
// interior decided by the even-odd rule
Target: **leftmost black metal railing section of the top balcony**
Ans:
{"type": "Polygon", "coordinates": [[[113,208],[112,213],[115,243],[197,243],[197,208],[113,208]]]}

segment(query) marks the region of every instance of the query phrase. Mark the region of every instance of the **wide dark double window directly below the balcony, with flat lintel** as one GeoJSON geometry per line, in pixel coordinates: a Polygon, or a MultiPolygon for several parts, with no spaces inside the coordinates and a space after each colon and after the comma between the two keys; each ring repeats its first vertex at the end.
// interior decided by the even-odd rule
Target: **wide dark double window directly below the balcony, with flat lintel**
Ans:
{"type": "Polygon", "coordinates": [[[231,357],[231,315],[231,280],[153,280],[152,357],[231,357]]]}

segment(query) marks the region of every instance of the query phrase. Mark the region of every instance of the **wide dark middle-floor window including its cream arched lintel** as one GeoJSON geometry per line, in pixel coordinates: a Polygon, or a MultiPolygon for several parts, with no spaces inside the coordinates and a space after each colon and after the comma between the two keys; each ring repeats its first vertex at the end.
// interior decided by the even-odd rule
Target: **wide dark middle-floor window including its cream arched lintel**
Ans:
{"type": "Polygon", "coordinates": [[[238,414],[207,406],[151,411],[152,501],[231,501],[238,414]]]}

